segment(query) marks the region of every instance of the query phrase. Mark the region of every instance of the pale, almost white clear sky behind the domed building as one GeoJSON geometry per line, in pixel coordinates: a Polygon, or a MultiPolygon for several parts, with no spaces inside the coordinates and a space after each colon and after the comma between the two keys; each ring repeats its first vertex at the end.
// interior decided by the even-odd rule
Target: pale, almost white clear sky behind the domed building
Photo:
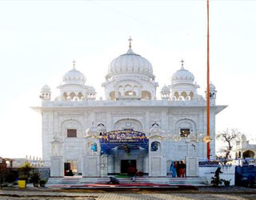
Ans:
{"type": "MultiPolygon", "coordinates": [[[[254,136],[256,1],[210,0],[210,79],[217,103],[216,132],[237,128],[254,136]]],[[[42,155],[39,92],[53,97],[62,75],[77,61],[86,85],[103,96],[113,58],[128,50],[153,65],[158,94],[181,59],[204,95],[206,0],[0,1],[0,156],[42,155]]],[[[159,97],[159,95],[158,95],[159,97]]]]}

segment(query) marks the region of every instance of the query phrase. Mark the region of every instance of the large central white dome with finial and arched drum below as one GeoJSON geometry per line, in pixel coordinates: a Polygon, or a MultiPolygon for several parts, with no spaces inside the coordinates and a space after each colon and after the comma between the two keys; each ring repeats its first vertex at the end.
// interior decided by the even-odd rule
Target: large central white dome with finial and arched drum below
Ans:
{"type": "Polygon", "coordinates": [[[128,41],[126,54],[114,58],[108,66],[106,82],[102,83],[106,99],[155,99],[158,82],[154,81],[153,67],[146,58],[131,49],[132,38],[128,41]]]}

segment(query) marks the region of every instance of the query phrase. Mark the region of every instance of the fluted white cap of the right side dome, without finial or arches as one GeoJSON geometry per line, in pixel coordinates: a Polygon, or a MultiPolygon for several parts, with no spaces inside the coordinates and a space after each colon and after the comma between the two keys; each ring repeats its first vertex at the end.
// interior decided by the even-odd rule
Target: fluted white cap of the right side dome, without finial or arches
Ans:
{"type": "Polygon", "coordinates": [[[179,82],[193,83],[194,75],[189,70],[185,70],[184,67],[182,66],[180,70],[176,71],[173,74],[171,79],[174,84],[179,82]]]}

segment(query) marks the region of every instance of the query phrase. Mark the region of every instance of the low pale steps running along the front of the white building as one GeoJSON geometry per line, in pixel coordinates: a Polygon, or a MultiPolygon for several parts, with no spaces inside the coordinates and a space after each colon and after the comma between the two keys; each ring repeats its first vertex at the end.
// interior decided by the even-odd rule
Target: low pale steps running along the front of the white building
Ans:
{"type": "MultiPolygon", "coordinates": [[[[133,183],[130,178],[118,178],[120,183],[133,183]]],[[[47,185],[65,185],[65,186],[81,186],[86,184],[106,183],[110,178],[49,178],[47,185]]],[[[138,177],[136,182],[139,183],[155,183],[155,184],[170,184],[171,186],[207,186],[209,185],[206,178],[187,177],[187,178],[170,178],[170,177],[138,177]]]]}

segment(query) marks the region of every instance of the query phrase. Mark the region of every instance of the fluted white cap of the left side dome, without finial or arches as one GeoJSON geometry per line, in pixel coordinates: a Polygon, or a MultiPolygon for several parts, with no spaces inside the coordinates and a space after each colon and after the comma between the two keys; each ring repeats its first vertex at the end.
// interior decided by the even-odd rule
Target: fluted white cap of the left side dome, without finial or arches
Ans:
{"type": "Polygon", "coordinates": [[[86,77],[78,70],[68,71],[62,78],[66,84],[80,84],[83,85],[86,82],[86,77]]]}

